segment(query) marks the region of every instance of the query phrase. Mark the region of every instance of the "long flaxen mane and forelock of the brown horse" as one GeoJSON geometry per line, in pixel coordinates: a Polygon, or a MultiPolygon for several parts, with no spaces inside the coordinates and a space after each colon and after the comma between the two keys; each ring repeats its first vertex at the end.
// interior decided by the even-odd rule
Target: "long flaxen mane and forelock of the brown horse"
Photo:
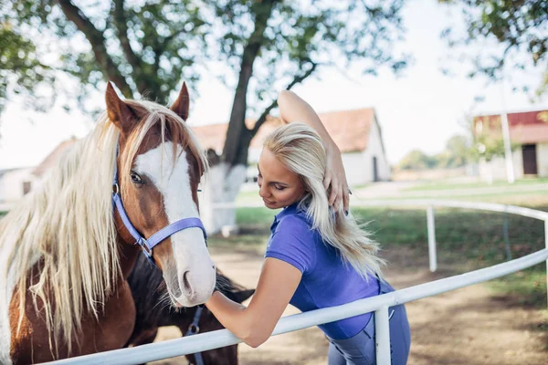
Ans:
{"type": "MultiPolygon", "coordinates": [[[[126,103],[142,120],[121,154],[122,196],[139,146],[158,123],[163,141],[169,135],[175,145],[183,144],[194,154],[200,173],[207,169],[205,153],[172,110],[149,101],[126,103]]],[[[30,290],[35,309],[45,315],[52,353],[63,342],[70,353],[72,341],[78,341],[75,335],[82,330],[81,318],[84,314],[99,317],[120,277],[111,203],[119,135],[103,113],[96,128],[75,143],[37,189],[0,220],[0,251],[6,252],[5,248],[9,253],[8,265],[0,275],[18,279],[14,291],[19,296],[17,330],[30,290]]]]}

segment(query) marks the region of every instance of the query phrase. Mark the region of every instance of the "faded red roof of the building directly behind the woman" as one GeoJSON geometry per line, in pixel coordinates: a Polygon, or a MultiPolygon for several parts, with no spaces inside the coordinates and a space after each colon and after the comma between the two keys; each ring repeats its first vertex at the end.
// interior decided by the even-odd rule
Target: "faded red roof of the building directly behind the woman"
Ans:
{"type": "MultiPolygon", "coordinates": [[[[373,108],[332,111],[319,113],[318,116],[342,152],[364,151],[367,148],[369,130],[374,122],[373,108]]],[[[254,123],[254,120],[246,120],[248,127],[254,123]]],[[[281,126],[281,122],[278,118],[267,118],[267,121],[259,128],[257,135],[251,140],[250,147],[261,148],[269,132],[279,126],[281,126]]],[[[213,148],[216,151],[222,151],[225,145],[227,128],[227,123],[192,127],[202,147],[213,148]]]]}

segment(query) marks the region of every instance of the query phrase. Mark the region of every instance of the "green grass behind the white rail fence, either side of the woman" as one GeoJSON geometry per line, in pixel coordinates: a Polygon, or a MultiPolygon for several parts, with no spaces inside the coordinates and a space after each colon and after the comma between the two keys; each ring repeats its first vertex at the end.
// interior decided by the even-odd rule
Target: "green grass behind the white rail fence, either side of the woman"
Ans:
{"type": "MultiPolygon", "coordinates": [[[[539,207],[537,207],[539,208],[539,207]]],[[[540,207],[548,210],[548,205],[540,207]]],[[[215,238],[214,245],[245,245],[264,248],[274,214],[266,208],[237,209],[241,234],[215,238]]],[[[417,255],[427,252],[427,214],[420,209],[356,208],[353,214],[385,249],[398,245],[412,248],[417,255]]],[[[475,210],[437,209],[436,239],[439,266],[455,268],[450,275],[468,272],[506,261],[503,223],[508,219],[512,258],[531,254],[544,247],[544,224],[514,214],[475,210]]],[[[546,307],[544,265],[490,281],[495,294],[513,297],[520,305],[546,307]]]]}

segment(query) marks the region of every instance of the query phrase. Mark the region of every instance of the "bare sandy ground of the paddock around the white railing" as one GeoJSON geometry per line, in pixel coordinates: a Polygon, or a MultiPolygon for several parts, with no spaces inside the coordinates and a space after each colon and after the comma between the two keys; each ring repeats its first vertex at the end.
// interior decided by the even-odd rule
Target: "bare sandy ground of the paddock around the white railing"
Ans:
{"type": "MultiPolygon", "coordinates": [[[[212,249],[217,265],[246,287],[255,287],[262,255],[256,250],[212,249]]],[[[440,265],[429,273],[427,255],[399,248],[385,252],[388,281],[397,289],[435,280],[454,271],[440,265]]],[[[406,305],[412,344],[408,364],[548,364],[545,310],[513,305],[495,297],[485,285],[465,287],[406,305]]],[[[297,313],[288,308],[285,314],[297,313]]],[[[176,328],[162,328],[156,340],[180,336],[176,328]]],[[[258,349],[239,345],[242,365],[326,364],[327,340],[320,329],[307,328],[270,338],[258,349]]],[[[187,364],[184,358],[154,364],[187,364]]]]}

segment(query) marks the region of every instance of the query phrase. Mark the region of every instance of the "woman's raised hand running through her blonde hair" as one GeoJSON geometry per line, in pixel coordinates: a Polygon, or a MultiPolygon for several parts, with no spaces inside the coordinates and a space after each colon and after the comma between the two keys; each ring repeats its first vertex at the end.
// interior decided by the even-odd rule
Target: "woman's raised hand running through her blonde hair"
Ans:
{"type": "Polygon", "coordinates": [[[346,182],[346,172],[342,164],[341,151],[337,145],[332,142],[325,146],[326,165],[323,186],[329,191],[329,205],[338,212],[341,208],[344,214],[348,214],[349,193],[348,183],[346,182]]]}

